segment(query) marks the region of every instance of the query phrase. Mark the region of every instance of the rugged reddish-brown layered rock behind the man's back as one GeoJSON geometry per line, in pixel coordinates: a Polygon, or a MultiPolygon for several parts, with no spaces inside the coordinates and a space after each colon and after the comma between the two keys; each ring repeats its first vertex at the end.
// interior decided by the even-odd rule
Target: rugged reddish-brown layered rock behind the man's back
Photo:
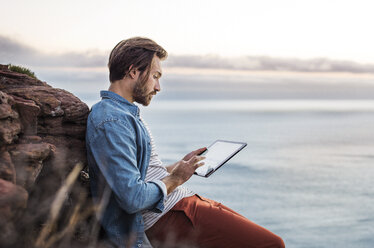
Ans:
{"type": "Polygon", "coordinates": [[[0,246],[17,243],[17,225],[48,215],[66,175],[86,164],[88,112],[73,94],[0,65],[0,246]],[[28,212],[23,222],[20,211],[28,212]]]}

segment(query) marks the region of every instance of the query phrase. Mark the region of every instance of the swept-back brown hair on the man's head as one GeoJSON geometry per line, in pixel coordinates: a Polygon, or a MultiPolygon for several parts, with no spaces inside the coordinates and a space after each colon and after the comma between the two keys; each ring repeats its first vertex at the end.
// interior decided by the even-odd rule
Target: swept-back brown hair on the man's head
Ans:
{"type": "MultiPolygon", "coordinates": [[[[155,55],[163,60],[166,59],[168,53],[151,39],[133,37],[119,42],[109,56],[110,82],[124,78],[129,73],[131,65],[132,68],[138,69],[141,74],[144,72],[149,74],[155,55]]],[[[146,78],[148,76],[146,75],[146,78]]]]}

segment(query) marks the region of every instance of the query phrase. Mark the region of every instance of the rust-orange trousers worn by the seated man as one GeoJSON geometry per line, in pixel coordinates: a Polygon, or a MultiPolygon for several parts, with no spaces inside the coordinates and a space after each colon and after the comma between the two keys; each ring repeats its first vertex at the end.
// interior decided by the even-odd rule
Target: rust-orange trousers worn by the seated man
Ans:
{"type": "Polygon", "coordinates": [[[180,200],[146,234],[155,248],[285,247],[279,236],[199,195],[180,200]]]}

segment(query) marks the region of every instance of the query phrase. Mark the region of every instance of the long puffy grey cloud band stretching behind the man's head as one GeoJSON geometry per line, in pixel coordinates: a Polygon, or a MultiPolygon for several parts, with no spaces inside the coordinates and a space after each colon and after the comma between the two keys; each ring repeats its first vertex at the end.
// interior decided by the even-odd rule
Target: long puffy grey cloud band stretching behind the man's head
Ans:
{"type": "MultiPolygon", "coordinates": [[[[86,51],[47,54],[0,36],[0,63],[43,67],[105,67],[109,52],[86,51]]],[[[374,73],[374,64],[327,58],[297,59],[267,56],[221,57],[217,55],[170,55],[166,67],[249,71],[374,73]]]]}

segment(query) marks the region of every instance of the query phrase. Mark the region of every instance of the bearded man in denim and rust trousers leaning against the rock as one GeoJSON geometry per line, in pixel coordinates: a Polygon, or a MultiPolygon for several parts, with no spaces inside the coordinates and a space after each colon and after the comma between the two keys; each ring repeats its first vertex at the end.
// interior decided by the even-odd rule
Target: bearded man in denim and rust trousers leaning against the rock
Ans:
{"type": "Polygon", "coordinates": [[[170,166],[158,158],[134,102],[148,106],[161,90],[166,57],[147,38],[118,43],[109,57],[109,90],[88,117],[91,191],[104,206],[99,217],[107,236],[119,247],[141,247],[147,236],[156,247],[284,247],[270,231],[181,186],[204,164],[199,154],[206,148],[170,166]]]}

